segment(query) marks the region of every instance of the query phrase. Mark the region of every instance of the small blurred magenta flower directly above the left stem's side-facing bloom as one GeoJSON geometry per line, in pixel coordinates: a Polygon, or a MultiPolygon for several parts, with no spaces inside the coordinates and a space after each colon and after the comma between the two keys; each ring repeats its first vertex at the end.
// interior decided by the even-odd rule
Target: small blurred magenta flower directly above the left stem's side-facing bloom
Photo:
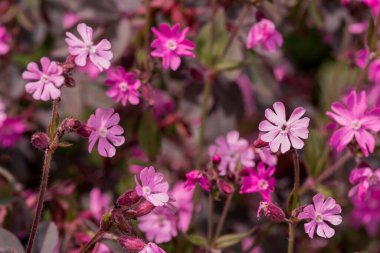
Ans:
{"type": "Polygon", "coordinates": [[[107,72],[108,79],[106,84],[110,87],[107,96],[112,98],[115,103],[121,101],[123,106],[127,105],[127,101],[133,105],[140,102],[140,93],[138,89],[141,82],[137,79],[135,72],[125,72],[122,67],[107,72]]]}

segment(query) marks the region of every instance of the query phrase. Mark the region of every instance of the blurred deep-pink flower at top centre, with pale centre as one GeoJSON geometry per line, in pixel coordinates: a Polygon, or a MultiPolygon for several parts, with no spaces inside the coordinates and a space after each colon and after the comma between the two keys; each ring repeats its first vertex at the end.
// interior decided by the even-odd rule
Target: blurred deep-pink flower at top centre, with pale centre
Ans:
{"type": "Polygon", "coordinates": [[[177,70],[181,64],[180,56],[195,57],[192,52],[195,48],[194,43],[185,38],[189,32],[188,27],[181,32],[179,24],[173,27],[160,24],[160,30],[152,28],[152,31],[157,39],[151,44],[154,49],[151,55],[162,58],[164,69],[170,67],[172,70],[177,70]]]}

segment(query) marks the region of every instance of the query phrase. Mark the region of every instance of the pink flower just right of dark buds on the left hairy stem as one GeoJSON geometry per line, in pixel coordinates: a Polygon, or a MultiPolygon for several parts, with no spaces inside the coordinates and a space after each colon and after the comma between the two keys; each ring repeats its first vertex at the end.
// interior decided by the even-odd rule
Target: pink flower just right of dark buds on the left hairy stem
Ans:
{"type": "Polygon", "coordinates": [[[114,109],[96,109],[87,121],[87,126],[93,128],[89,137],[88,151],[91,153],[95,143],[98,143],[98,152],[104,157],[113,157],[116,153],[114,146],[119,147],[125,142],[124,129],[119,126],[120,116],[114,109]],[[111,145],[111,143],[113,145],[111,145]]]}

